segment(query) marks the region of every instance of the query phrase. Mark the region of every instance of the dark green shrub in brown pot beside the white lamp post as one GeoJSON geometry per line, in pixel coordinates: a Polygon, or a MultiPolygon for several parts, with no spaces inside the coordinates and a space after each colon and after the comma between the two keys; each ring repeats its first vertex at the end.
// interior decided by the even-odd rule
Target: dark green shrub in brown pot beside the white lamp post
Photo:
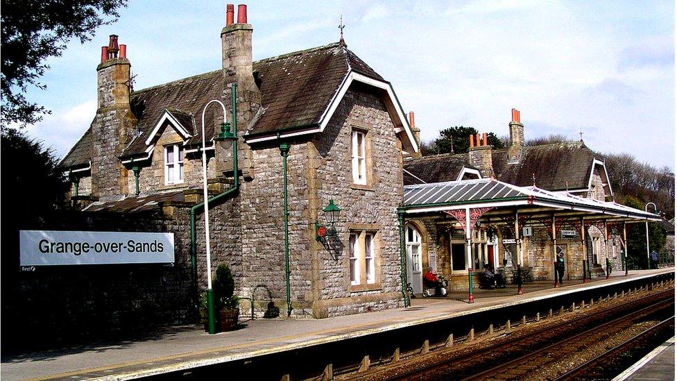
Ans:
{"type": "Polygon", "coordinates": [[[237,326],[240,316],[240,299],[233,295],[235,280],[227,264],[219,264],[216,267],[214,277],[214,308],[217,311],[221,331],[233,330],[237,326]]]}

